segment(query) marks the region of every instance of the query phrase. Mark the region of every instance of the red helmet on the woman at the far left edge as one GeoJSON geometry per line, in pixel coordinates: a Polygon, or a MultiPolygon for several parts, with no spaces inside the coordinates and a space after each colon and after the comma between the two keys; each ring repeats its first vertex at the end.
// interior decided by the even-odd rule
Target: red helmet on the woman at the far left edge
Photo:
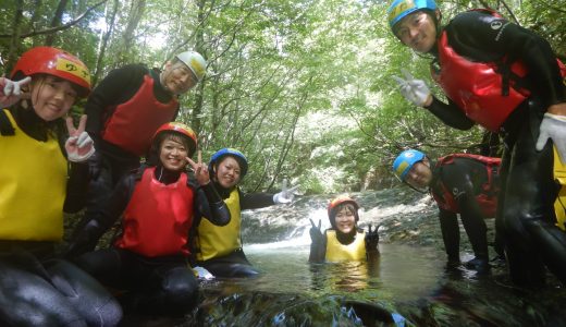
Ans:
{"type": "Polygon", "coordinates": [[[90,93],[90,73],[88,68],[75,56],[61,49],[51,47],[35,47],[22,55],[10,75],[14,78],[17,72],[25,76],[34,74],[49,74],[69,81],[84,92],[86,97],[90,93]]]}

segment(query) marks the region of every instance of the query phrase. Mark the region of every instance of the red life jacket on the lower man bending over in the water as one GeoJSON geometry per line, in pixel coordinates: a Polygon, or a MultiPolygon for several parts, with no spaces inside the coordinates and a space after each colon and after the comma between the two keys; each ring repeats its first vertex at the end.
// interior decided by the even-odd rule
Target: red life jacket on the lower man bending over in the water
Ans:
{"type": "MultiPolygon", "coordinates": [[[[478,202],[484,218],[495,217],[500,186],[496,183],[494,183],[494,174],[499,174],[501,158],[484,157],[472,154],[452,154],[440,158],[436,162],[436,167],[453,164],[454,158],[473,159],[482,162],[485,166],[485,170],[488,172],[488,181],[481,185],[481,192],[478,195],[476,195],[476,201],[478,202]]],[[[431,192],[432,197],[434,198],[439,207],[444,210],[458,214],[459,207],[458,203],[454,198],[454,194],[450,190],[447,190],[443,183],[440,183],[440,189],[442,191],[442,194],[431,192]]]]}

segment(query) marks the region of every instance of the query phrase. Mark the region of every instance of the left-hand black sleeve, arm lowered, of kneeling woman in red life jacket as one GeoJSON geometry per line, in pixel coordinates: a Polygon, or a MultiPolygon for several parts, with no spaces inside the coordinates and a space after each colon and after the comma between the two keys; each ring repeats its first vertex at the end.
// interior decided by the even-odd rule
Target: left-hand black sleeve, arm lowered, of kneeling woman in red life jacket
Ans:
{"type": "Polygon", "coordinates": [[[134,186],[136,183],[136,175],[134,173],[125,175],[116,184],[112,192],[109,204],[102,210],[100,217],[88,220],[85,226],[78,226],[65,250],[66,257],[76,257],[83,253],[93,251],[98,243],[98,240],[109,230],[115,221],[124,213],[134,186]]]}

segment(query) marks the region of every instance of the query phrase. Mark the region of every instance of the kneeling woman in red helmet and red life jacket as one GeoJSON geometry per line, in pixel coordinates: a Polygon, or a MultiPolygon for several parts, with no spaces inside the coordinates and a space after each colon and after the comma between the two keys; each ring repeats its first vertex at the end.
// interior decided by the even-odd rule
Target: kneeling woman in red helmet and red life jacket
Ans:
{"type": "Polygon", "coordinates": [[[126,312],[181,315],[197,304],[198,282],[187,268],[194,216],[223,226],[230,211],[200,154],[197,162],[190,159],[196,148],[197,136],[187,125],[161,125],[148,165],[122,178],[103,215],[79,228],[71,241],[67,256],[102,283],[124,290],[126,312]],[[185,172],[187,164],[195,179],[185,172]],[[122,230],[113,246],[88,252],[120,218],[122,230]]]}

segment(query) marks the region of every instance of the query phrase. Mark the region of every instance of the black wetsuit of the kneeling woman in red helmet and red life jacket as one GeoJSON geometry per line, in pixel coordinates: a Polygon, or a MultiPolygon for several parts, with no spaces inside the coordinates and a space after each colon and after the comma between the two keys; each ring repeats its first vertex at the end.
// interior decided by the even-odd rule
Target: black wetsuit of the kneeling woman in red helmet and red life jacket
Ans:
{"type": "MultiPolygon", "coordinates": [[[[164,184],[179,180],[179,172],[164,170],[160,166],[155,173],[158,171],[160,174],[156,179],[164,184]]],[[[100,218],[90,220],[75,233],[69,249],[70,256],[91,250],[115,223],[126,209],[142,173],[143,169],[132,172],[119,182],[100,218]]],[[[210,221],[216,225],[222,226],[230,221],[230,211],[211,184],[196,186],[190,182],[189,186],[197,190],[195,213],[210,217],[210,221]]],[[[173,235],[173,231],[171,233],[173,235]]],[[[126,291],[120,296],[126,312],[175,315],[184,314],[197,304],[198,282],[184,255],[147,257],[111,246],[85,253],[75,262],[103,284],[126,291]]]]}

